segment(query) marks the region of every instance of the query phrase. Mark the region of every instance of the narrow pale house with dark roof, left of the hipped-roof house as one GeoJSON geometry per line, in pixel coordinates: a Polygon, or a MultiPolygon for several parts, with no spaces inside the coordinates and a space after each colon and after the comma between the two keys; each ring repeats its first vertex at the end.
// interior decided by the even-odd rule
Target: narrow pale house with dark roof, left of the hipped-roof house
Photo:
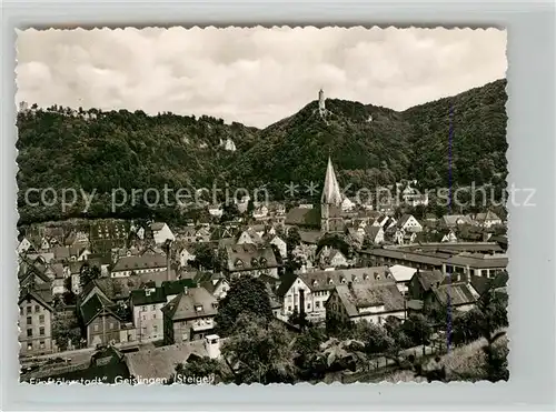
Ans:
{"type": "Polygon", "coordinates": [[[162,339],[162,308],[168,303],[163,288],[149,282],[131,291],[129,301],[139,342],[162,339]]]}

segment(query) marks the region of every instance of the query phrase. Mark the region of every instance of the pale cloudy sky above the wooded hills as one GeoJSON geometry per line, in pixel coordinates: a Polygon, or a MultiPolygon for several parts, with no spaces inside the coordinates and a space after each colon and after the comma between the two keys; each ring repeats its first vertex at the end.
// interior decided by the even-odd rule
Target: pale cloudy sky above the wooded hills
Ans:
{"type": "Polygon", "coordinates": [[[317,99],[405,110],[505,78],[496,29],[19,31],[17,102],[214,115],[264,128],[317,99]]]}

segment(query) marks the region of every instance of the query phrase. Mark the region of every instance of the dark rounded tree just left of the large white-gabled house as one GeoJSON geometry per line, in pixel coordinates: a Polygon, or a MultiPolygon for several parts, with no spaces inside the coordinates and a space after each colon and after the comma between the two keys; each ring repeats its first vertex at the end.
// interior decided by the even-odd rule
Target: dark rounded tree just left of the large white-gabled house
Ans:
{"type": "Polygon", "coordinates": [[[274,319],[266,284],[258,278],[244,275],[231,281],[230,290],[221,300],[215,319],[218,333],[222,336],[234,333],[241,314],[259,316],[267,322],[274,319]]]}

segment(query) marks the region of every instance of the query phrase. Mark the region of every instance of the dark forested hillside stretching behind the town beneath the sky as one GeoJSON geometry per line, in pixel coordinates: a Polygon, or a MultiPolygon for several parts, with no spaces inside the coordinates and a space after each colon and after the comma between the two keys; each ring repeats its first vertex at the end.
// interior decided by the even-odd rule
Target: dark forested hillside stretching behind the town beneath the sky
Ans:
{"type": "Polygon", "coordinates": [[[328,99],[325,119],[314,101],[264,130],[171,113],[60,107],[22,111],[17,121],[20,222],[81,215],[78,205],[63,213],[59,205],[27,205],[29,188],[96,190],[106,194],[87,217],[129,217],[140,207],[112,213],[107,197],[113,188],[210,188],[217,180],[219,187],[266,184],[280,198],[290,181],[321,185],[328,155],[340,184],[354,189],[400,179],[417,179],[425,188],[471,181],[502,188],[507,168],[505,86],[498,80],[404,112],[328,99]],[[236,151],[225,150],[227,139],[236,151]]]}

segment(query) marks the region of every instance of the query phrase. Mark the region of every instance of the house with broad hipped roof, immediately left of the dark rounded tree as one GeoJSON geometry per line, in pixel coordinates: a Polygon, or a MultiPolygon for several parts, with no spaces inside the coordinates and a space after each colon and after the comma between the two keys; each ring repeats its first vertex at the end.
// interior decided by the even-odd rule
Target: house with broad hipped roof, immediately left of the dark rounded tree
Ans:
{"type": "Polygon", "coordinates": [[[185,288],[162,308],[165,344],[200,340],[215,328],[218,302],[203,288],[185,288]]]}

